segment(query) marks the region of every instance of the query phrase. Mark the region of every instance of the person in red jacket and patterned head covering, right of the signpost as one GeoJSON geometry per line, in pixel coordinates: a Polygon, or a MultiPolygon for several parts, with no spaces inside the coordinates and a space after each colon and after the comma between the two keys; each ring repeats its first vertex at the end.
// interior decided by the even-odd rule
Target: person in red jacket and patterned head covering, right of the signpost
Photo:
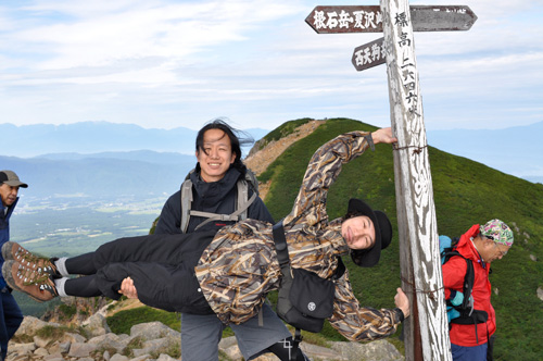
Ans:
{"type": "MultiPolygon", "coordinates": [[[[496,314],[490,301],[490,264],[507,254],[512,246],[513,232],[500,220],[489,221],[484,225],[476,224],[458,240],[456,250],[473,265],[471,298],[478,320],[471,324],[455,323],[454,320],[451,323],[451,351],[454,361],[483,361],[487,360],[487,353],[491,353],[491,336],[496,331],[496,314]]],[[[462,257],[452,257],[443,264],[445,299],[454,298],[456,292],[463,291],[467,267],[467,262],[462,257]]]]}

